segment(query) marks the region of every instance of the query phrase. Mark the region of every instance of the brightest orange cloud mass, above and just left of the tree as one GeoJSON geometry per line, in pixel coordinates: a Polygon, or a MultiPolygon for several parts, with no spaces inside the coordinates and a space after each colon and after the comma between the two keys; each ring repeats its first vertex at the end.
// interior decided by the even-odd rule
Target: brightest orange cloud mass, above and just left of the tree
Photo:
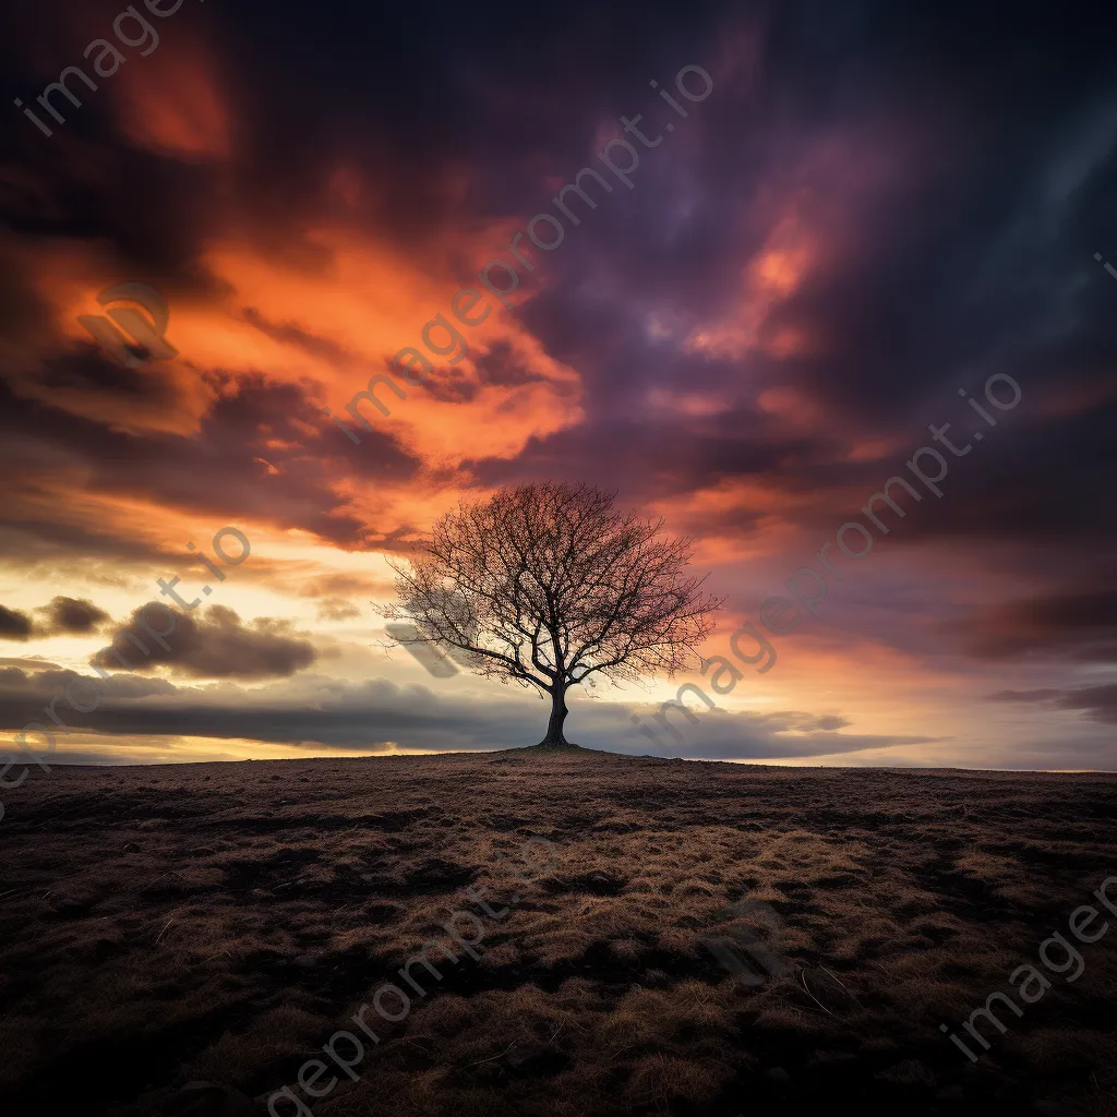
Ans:
{"type": "MultiPolygon", "coordinates": [[[[435,365],[431,381],[460,384],[468,389],[464,397],[430,395],[397,373],[405,399],[390,389],[379,390],[388,417],[367,402],[359,408],[374,427],[390,430],[412,452],[451,468],[466,458],[513,457],[531,438],[581,420],[577,372],[551,357],[497,299],[478,303],[472,315],[483,313],[487,303],[487,318],[466,326],[451,313],[460,284],[448,273],[431,274],[399,249],[351,228],[318,227],[303,236],[324,250],[327,266],[308,270],[265,257],[247,244],[214,244],[207,267],[232,294],[219,321],[207,315],[181,323],[176,334],[181,343],[175,342],[180,350],[210,366],[266,369],[276,380],[318,381],[327,397],[322,402],[360,435],[362,428],[345,416],[345,405],[367,386],[370,376],[385,371],[395,354],[414,347],[435,365]],[[246,317],[249,308],[256,321],[276,328],[257,328],[246,317]],[[423,344],[423,328],[438,315],[465,340],[467,350],[456,363],[460,343],[442,357],[423,344]],[[304,338],[302,344],[298,337],[304,338]],[[479,361],[497,343],[534,379],[515,385],[486,383],[479,361]]],[[[469,239],[477,239],[476,233],[469,239]]],[[[486,241],[489,247],[500,242],[491,235],[486,241]]],[[[428,336],[446,347],[448,335],[441,325],[428,336]]],[[[337,437],[344,438],[341,432],[337,437]]]]}

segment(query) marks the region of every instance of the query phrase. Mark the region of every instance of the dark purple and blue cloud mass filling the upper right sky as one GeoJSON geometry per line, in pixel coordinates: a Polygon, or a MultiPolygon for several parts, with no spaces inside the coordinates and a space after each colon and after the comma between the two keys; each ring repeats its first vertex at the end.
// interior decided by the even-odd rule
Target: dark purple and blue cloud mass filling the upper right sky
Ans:
{"type": "MultiPolygon", "coordinates": [[[[954,498],[904,532],[913,542],[1111,538],[1097,512],[1117,474],[1117,288],[1090,246],[1117,233],[1117,130],[1104,126],[1117,84],[1090,41],[1096,28],[1085,9],[1066,21],[1033,11],[1012,27],[949,4],[894,8],[887,20],[876,4],[842,12],[783,6],[747,96],[718,87],[700,121],[686,122],[697,156],[666,142],[646,153],[634,192],[609,199],[614,208],[563,249],[560,280],[524,317],[582,373],[586,423],[515,462],[483,462],[481,475],[602,471],[639,499],[779,470],[790,493],[817,495],[803,516],[822,526],[830,491],[872,491],[929,441],[928,422],[981,429],[956,390],[981,399],[985,376],[1003,370],[1024,388],[1015,426],[997,432],[1003,445],[952,462],[954,498]],[[1035,49],[1052,37],[1063,54],[1035,49]],[[765,195],[781,191],[803,199],[822,262],[766,325],[804,330],[818,355],[686,356],[643,333],[659,306],[684,335],[710,308],[732,311],[742,260],[779,214],[765,195]],[[731,391],[720,414],[633,418],[649,388],[743,381],[748,399],[731,391]],[[1096,407],[1054,407],[1107,383],[1096,407]],[[751,401],[774,384],[821,401],[825,424],[772,431],[751,401]],[[890,470],[843,460],[858,438],[880,437],[910,447],[890,470]]],[[[713,513],[707,522],[725,526],[713,513]]]]}

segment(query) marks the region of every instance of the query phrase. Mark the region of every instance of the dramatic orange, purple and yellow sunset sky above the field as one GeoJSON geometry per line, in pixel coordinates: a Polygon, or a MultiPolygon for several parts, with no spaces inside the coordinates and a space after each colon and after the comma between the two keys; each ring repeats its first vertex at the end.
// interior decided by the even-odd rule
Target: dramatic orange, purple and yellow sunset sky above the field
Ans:
{"type": "Polygon", "coordinates": [[[532,744],[537,697],[432,677],[378,609],[385,560],[445,510],[553,478],[694,538],[726,599],[707,657],[821,570],[827,542],[837,572],[818,615],[772,637],[771,670],[742,665],[716,710],[675,719],[680,742],[655,746],[630,716],[708,681],[697,670],[572,700],[571,739],[1117,767],[1117,276],[1095,258],[1117,268],[1117,38],[1096,6],[141,3],[154,49],[132,17],[116,37],[120,0],[12,8],[8,748],[29,722],[82,763],[532,744]],[[84,58],[96,39],[122,60],[104,42],[84,58]],[[71,74],[82,105],[56,92],[58,123],[36,98],[78,65],[97,89],[71,74]],[[713,80],[700,102],[676,87],[687,66],[713,80]],[[626,137],[637,114],[655,146],[626,137]],[[618,174],[598,156],[618,137],[639,153],[628,182],[623,146],[618,174]],[[595,209],[567,194],[579,223],[553,250],[522,236],[528,271],[509,239],[584,166],[612,189],[583,179],[595,209]],[[485,292],[462,342],[435,327],[424,346],[496,257],[518,267],[507,305],[485,292]],[[176,356],[127,366],[78,323],[127,281],[165,299],[176,356]],[[408,346],[431,373],[400,379],[404,399],[381,386],[391,413],[363,405],[355,443],[322,409],[344,414],[408,346]],[[1016,383],[1019,403],[994,409],[986,382],[1002,402],[1016,383]],[[944,423],[968,451],[933,441],[944,423]],[[923,446],[948,461],[942,496],[905,465],[923,446]],[[896,488],[907,515],[885,508],[865,557],[839,551],[897,474],[922,499],[896,488]],[[237,565],[214,555],[227,526],[250,541],[237,565]],[[128,650],[135,669],[109,670],[93,712],[49,705],[70,684],[88,708],[74,680],[174,576],[202,603],[173,651],[128,650]]]}

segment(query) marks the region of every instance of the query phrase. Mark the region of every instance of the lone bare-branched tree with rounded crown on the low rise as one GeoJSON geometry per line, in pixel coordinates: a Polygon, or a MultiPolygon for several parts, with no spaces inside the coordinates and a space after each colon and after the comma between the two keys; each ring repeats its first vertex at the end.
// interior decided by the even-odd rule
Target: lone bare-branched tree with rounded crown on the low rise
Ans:
{"type": "Polygon", "coordinates": [[[720,601],[686,575],[687,538],[662,519],[613,508],[614,494],[546,483],[459,505],[397,574],[407,645],[445,647],[459,662],[551,697],[541,745],[566,745],[566,691],[684,669],[714,630],[720,601]]]}

